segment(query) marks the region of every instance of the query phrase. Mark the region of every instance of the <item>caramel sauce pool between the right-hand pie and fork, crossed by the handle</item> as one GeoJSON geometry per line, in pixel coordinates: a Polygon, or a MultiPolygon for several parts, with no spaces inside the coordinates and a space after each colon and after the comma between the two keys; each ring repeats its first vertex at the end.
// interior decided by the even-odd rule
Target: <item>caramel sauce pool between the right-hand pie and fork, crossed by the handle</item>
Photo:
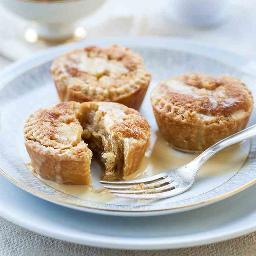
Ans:
{"type": "MultiPolygon", "coordinates": [[[[199,170],[197,179],[238,172],[248,156],[241,144],[232,145],[210,158],[199,170]]],[[[170,147],[159,131],[152,132],[150,145],[140,168],[124,179],[140,179],[183,166],[199,153],[184,153],[170,147]]]]}

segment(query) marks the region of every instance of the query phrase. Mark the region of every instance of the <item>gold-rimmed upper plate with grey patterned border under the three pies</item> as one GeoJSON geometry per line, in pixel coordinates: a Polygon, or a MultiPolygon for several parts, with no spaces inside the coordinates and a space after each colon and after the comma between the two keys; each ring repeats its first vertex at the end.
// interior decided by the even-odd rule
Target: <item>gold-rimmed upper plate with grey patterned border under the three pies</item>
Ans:
{"type": "MultiPolygon", "coordinates": [[[[146,40],[141,39],[141,44],[146,40]]],[[[19,187],[48,201],[82,211],[123,216],[160,215],[192,210],[227,198],[254,184],[256,182],[254,170],[256,140],[252,140],[251,148],[249,142],[244,143],[244,147],[250,150],[250,153],[247,161],[238,172],[231,171],[218,176],[208,175],[198,179],[191,189],[181,195],[146,204],[119,198],[105,204],[67,195],[49,187],[26,169],[24,162],[29,162],[29,158],[24,147],[22,127],[29,114],[38,108],[48,107],[59,102],[49,73],[49,66],[52,59],[67,49],[92,43],[98,45],[118,43],[132,46],[140,52],[145,65],[152,73],[152,82],[141,112],[149,121],[153,131],[157,130],[157,126],[150,106],[149,93],[158,82],[168,77],[189,71],[205,72],[213,75],[230,73],[246,82],[253,93],[255,92],[255,80],[227,64],[184,50],[173,50],[170,49],[170,45],[169,49],[161,49],[163,48],[163,42],[170,43],[170,40],[162,39],[162,45],[161,43],[152,42],[151,46],[145,45],[144,47],[140,44],[135,47],[134,41],[130,44],[128,41],[112,39],[109,41],[86,42],[83,45],[81,43],[69,45],[64,48],[57,47],[16,64],[0,75],[2,81],[0,85],[2,119],[0,168],[2,174],[19,187]]],[[[179,43],[181,42],[182,40],[179,43]]],[[[255,116],[254,113],[252,114],[253,117],[255,116]]],[[[251,119],[250,124],[255,124],[255,120],[251,119]]],[[[93,185],[97,187],[100,178],[99,166],[93,165],[92,174],[93,185]]]]}

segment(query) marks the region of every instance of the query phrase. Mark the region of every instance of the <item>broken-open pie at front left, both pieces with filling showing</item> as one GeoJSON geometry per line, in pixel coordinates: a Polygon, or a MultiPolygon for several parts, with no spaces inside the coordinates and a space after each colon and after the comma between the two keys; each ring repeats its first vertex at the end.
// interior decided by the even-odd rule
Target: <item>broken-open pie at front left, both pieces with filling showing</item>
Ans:
{"type": "Polygon", "coordinates": [[[104,166],[104,179],[121,179],[136,171],[148,147],[150,127],[138,111],[122,104],[65,102],[30,115],[24,135],[39,175],[57,183],[86,185],[92,151],[104,166]]]}

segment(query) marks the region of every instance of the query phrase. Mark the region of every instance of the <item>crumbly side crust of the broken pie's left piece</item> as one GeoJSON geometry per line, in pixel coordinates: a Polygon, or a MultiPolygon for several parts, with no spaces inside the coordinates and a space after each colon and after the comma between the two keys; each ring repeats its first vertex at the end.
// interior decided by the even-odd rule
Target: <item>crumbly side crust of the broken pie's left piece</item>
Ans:
{"type": "Polygon", "coordinates": [[[79,177],[79,185],[90,184],[92,152],[86,143],[81,141],[71,149],[61,150],[45,147],[36,141],[25,140],[25,147],[35,172],[42,178],[59,184],[77,185],[74,179],[65,175],[70,172],[79,177]],[[74,155],[77,150],[84,151],[80,157],[74,155]]]}

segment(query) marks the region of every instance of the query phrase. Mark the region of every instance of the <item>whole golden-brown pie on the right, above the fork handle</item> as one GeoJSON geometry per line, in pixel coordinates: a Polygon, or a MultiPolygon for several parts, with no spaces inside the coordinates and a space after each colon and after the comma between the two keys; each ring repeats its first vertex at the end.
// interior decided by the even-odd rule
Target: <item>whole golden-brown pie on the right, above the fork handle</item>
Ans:
{"type": "Polygon", "coordinates": [[[232,76],[187,73],[161,82],[151,93],[151,104],[172,147],[202,151],[246,127],[253,97],[232,76]]]}

